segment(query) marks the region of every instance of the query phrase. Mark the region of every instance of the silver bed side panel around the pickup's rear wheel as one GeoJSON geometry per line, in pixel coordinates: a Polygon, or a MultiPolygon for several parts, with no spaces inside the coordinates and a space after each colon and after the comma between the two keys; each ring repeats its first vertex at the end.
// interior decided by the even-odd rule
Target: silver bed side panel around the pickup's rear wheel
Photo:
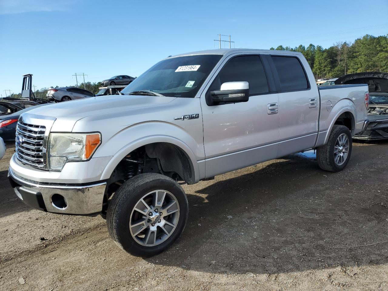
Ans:
{"type": "Polygon", "coordinates": [[[319,87],[321,106],[317,147],[326,144],[335,121],[342,113],[352,114],[352,135],[362,130],[364,121],[367,120],[365,92],[368,92],[367,85],[319,87]]]}

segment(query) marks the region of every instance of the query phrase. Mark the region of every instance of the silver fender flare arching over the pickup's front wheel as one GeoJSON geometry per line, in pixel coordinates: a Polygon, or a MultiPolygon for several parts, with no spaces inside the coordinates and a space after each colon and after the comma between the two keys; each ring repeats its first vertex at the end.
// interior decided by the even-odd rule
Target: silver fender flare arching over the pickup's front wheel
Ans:
{"type": "Polygon", "coordinates": [[[109,179],[114,169],[116,168],[116,166],[127,154],[129,154],[130,152],[134,151],[139,147],[142,147],[147,144],[153,144],[156,142],[165,142],[165,143],[173,144],[177,146],[180,150],[182,150],[182,152],[184,152],[185,155],[187,156],[187,159],[189,160],[189,163],[191,165],[192,174],[194,175],[194,179],[193,179],[194,183],[199,181],[199,166],[195,158],[194,152],[192,152],[190,147],[184,142],[182,142],[181,140],[168,135],[149,135],[147,137],[142,137],[140,139],[133,140],[129,144],[122,147],[120,151],[118,151],[111,158],[111,160],[105,167],[104,171],[101,174],[101,180],[109,179]]]}

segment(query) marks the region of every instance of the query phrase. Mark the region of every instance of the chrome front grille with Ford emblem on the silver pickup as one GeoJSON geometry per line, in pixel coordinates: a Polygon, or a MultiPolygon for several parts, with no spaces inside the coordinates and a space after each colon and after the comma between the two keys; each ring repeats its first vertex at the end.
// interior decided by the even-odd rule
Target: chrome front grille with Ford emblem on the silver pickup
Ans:
{"type": "Polygon", "coordinates": [[[34,168],[47,169],[45,141],[46,126],[21,122],[16,126],[17,159],[34,168]]]}

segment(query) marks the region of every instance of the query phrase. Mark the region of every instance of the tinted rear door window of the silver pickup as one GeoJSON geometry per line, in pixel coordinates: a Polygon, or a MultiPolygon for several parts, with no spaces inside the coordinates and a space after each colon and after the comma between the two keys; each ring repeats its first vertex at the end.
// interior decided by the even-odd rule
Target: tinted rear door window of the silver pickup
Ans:
{"type": "Polygon", "coordinates": [[[282,91],[303,90],[308,88],[305,71],[298,58],[272,55],[282,91]]]}

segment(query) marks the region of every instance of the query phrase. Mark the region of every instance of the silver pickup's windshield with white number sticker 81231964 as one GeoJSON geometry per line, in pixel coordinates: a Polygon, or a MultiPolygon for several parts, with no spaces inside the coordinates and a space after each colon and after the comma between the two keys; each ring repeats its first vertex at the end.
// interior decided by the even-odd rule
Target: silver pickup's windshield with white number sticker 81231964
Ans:
{"type": "Polygon", "coordinates": [[[193,98],[222,55],[188,55],[158,62],[121,93],[149,90],[168,97],[193,98]]]}

